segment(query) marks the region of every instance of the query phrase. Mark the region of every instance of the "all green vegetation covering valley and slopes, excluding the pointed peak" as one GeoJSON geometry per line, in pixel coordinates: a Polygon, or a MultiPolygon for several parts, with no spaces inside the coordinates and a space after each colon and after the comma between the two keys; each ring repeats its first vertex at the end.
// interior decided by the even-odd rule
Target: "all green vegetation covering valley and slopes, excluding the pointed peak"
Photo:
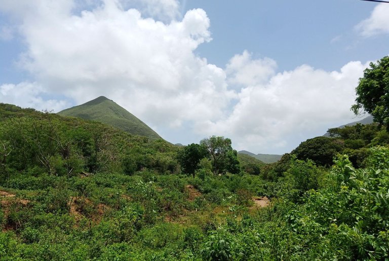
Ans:
{"type": "Polygon", "coordinates": [[[356,114],[280,161],[231,140],[175,146],[0,104],[0,260],[389,258],[389,57],[356,114]]]}

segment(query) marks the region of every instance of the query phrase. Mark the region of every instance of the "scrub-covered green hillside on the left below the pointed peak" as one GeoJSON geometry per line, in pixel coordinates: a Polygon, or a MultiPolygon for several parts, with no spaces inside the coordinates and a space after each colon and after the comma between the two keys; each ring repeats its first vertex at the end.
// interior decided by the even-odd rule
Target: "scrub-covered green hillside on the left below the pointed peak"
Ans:
{"type": "Polygon", "coordinates": [[[99,123],[35,113],[6,119],[0,130],[0,170],[6,176],[36,167],[60,176],[123,169],[133,174],[145,167],[162,173],[178,169],[173,145],[99,123]]]}

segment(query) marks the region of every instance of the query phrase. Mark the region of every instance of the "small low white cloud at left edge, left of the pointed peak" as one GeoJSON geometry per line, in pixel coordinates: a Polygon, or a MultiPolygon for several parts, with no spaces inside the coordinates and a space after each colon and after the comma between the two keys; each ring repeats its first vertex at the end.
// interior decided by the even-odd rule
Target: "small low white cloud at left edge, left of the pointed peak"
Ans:
{"type": "Polygon", "coordinates": [[[3,103],[49,111],[59,111],[69,106],[69,103],[64,100],[42,98],[45,94],[47,92],[37,83],[0,85],[0,102],[3,103]]]}

